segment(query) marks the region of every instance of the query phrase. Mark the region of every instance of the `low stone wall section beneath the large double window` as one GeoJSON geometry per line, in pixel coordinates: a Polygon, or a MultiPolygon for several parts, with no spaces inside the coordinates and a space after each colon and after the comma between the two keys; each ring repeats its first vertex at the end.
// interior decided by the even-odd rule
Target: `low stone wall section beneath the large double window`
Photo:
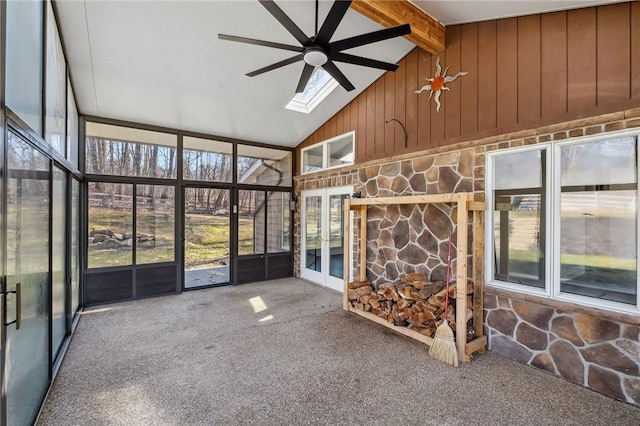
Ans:
{"type": "Polygon", "coordinates": [[[494,293],[484,297],[490,350],[640,405],[640,326],[494,293]]]}

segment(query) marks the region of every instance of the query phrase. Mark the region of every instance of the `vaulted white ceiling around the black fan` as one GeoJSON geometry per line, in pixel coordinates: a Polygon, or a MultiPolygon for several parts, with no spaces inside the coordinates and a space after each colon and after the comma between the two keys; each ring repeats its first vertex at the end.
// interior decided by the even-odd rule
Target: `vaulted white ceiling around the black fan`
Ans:
{"type": "MultiPolygon", "coordinates": [[[[413,1],[445,25],[611,2],[413,1]]],[[[314,32],[313,0],[277,3],[305,33],[314,32]]],[[[320,23],[332,3],[320,1],[320,23]]],[[[337,63],[356,89],[338,87],[311,114],[302,114],[284,108],[302,62],[245,76],[291,52],[218,39],[225,33],[298,44],[255,0],[55,4],[82,114],[293,147],[382,75],[337,63]]],[[[349,10],[332,40],[380,28],[349,10]]],[[[349,53],[397,62],[413,47],[397,38],[349,53]]]]}

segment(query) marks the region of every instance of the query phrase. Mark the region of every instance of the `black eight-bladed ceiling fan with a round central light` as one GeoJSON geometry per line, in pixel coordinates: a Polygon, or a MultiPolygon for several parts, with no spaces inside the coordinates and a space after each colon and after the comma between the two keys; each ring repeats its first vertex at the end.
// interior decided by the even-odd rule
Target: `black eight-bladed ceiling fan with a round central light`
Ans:
{"type": "Polygon", "coordinates": [[[355,56],[348,53],[343,53],[343,50],[351,49],[354,47],[364,46],[365,44],[375,43],[378,41],[388,40],[411,33],[411,26],[409,24],[398,25],[396,27],[386,28],[379,31],[373,31],[367,34],[358,35],[355,37],[345,38],[343,40],[331,41],[331,37],[335,33],[338,25],[347,13],[351,0],[336,0],[331,6],[331,10],[324,20],[322,27],[318,30],[318,0],[316,0],[316,27],[315,35],[313,37],[307,37],[307,35],[298,27],[292,20],[284,13],[282,9],[273,0],[258,0],[274,18],[282,24],[283,27],[289,33],[295,37],[300,43],[300,46],[292,46],[282,43],[274,43],[271,41],[257,40],[253,38],[237,37],[227,34],[218,34],[218,38],[221,40],[236,41],[240,43],[254,44],[258,46],[273,47],[275,49],[289,50],[292,52],[298,52],[297,55],[285,59],[275,64],[268,65],[266,67],[257,69],[246,75],[249,77],[255,77],[268,71],[273,71],[277,68],[285,65],[293,64],[298,61],[304,62],[304,68],[298,86],[296,87],[296,93],[301,93],[307,86],[309,78],[316,67],[322,67],[325,71],[331,75],[342,87],[347,91],[353,90],[355,87],[347,79],[347,77],[338,69],[334,62],[344,62],[348,64],[361,65],[370,68],[378,68],[387,71],[395,71],[398,69],[398,65],[388,62],[377,61],[375,59],[363,58],[361,56],[355,56]]]}

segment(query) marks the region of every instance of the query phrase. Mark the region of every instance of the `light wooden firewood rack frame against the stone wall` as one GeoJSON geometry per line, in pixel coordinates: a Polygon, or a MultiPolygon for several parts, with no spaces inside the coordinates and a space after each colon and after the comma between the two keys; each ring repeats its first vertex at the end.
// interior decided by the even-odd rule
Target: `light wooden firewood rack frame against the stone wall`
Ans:
{"type": "Polygon", "coordinates": [[[400,334],[411,337],[422,343],[431,346],[433,338],[420,334],[407,327],[395,326],[385,319],[370,312],[353,308],[348,298],[349,272],[351,263],[349,259],[349,248],[351,247],[351,221],[350,211],[360,213],[360,268],[357,279],[365,281],[367,279],[367,207],[387,206],[394,204],[456,204],[457,209],[457,241],[456,241],[456,276],[458,283],[467,282],[467,253],[468,253],[468,224],[469,212],[472,212],[472,278],[473,278],[473,328],[476,338],[466,342],[467,336],[467,286],[456,286],[456,348],[458,359],[466,362],[471,361],[473,353],[483,353],[487,345],[487,336],[483,330],[483,298],[484,298],[484,211],[486,203],[477,201],[474,194],[470,192],[460,192],[453,194],[435,195],[408,195],[399,197],[378,197],[378,198],[351,198],[345,200],[344,205],[344,292],[343,308],[371,321],[382,324],[400,334]]]}

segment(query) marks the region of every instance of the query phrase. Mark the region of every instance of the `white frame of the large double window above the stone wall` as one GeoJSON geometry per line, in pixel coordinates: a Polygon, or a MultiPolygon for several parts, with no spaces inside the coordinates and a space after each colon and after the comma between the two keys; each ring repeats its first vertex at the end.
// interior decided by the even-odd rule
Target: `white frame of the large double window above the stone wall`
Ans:
{"type": "MultiPolygon", "coordinates": [[[[598,309],[605,309],[620,313],[640,314],[640,261],[638,260],[638,250],[640,249],[640,209],[636,210],[636,304],[625,304],[610,300],[594,299],[588,296],[563,293],[560,289],[560,150],[564,146],[573,144],[584,144],[607,139],[617,139],[634,136],[636,138],[636,165],[640,165],[640,131],[638,129],[611,132],[606,134],[585,136],[564,140],[562,142],[549,142],[526,147],[509,148],[486,153],[485,166],[485,196],[487,200],[487,211],[485,217],[485,275],[486,284],[490,287],[502,288],[517,291],[519,293],[530,294],[543,298],[549,298],[577,305],[583,305],[598,309]],[[531,286],[501,281],[494,276],[494,160],[496,157],[506,154],[513,154],[525,151],[536,151],[546,149],[546,220],[545,229],[545,287],[544,289],[531,286]]],[[[640,200],[640,166],[636,170],[636,199],[640,200]]]]}

